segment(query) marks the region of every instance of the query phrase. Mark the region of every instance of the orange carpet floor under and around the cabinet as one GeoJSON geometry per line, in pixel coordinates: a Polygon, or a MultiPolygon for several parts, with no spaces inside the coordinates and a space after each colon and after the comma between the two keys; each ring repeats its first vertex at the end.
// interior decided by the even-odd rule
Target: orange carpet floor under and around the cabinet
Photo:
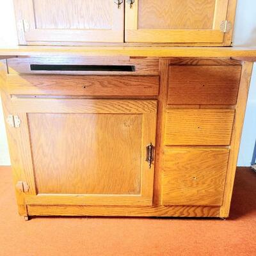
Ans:
{"type": "Polygon", "coordinates": [[[0,255],[256,255],[256,173],[237,170],[230,218],[33,218],[17,214],[0,168],[0,255]]]}

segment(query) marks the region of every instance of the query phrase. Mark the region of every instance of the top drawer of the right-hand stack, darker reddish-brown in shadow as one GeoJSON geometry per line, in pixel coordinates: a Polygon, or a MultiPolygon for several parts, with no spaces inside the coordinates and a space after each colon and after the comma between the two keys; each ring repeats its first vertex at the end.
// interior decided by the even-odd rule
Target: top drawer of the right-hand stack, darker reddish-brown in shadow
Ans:
{"type": "Polygon", "coordinates": [[[235,105],[241,65],[170,66],[168,104],[235,105]]]}

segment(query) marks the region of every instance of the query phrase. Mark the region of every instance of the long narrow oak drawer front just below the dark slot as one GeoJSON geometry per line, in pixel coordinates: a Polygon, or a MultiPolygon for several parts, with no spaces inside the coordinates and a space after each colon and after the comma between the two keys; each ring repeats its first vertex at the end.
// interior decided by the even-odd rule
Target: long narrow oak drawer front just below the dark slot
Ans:
{"type": "Polygon", "coordinates": [[[157,96],[159,76],[7,76],[11,95],[157,96]]]}

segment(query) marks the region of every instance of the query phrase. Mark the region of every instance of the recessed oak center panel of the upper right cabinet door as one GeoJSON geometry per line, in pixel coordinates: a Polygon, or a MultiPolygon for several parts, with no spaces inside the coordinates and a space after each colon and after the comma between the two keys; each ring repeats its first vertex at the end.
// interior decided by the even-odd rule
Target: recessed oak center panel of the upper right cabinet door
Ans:
{"type": "Polygon", "coordinates": [[[215,0],[140,0],[138,29],[211,29],[215,0]]]}

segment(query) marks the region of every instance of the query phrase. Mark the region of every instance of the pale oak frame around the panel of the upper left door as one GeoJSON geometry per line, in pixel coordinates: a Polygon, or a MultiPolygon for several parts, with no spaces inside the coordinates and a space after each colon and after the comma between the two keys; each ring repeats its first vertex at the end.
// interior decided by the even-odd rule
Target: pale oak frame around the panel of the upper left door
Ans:
{"type": "Polygon", "coordinates": [[[38,29],[33,0],[13,0],[13,3],[20,45],[55,44],[53,42],[68,42],[71,45],[81,42],[124,42],[124,4],[118,8],[115,1],[111,2],[111,29],[38,29]]]}

